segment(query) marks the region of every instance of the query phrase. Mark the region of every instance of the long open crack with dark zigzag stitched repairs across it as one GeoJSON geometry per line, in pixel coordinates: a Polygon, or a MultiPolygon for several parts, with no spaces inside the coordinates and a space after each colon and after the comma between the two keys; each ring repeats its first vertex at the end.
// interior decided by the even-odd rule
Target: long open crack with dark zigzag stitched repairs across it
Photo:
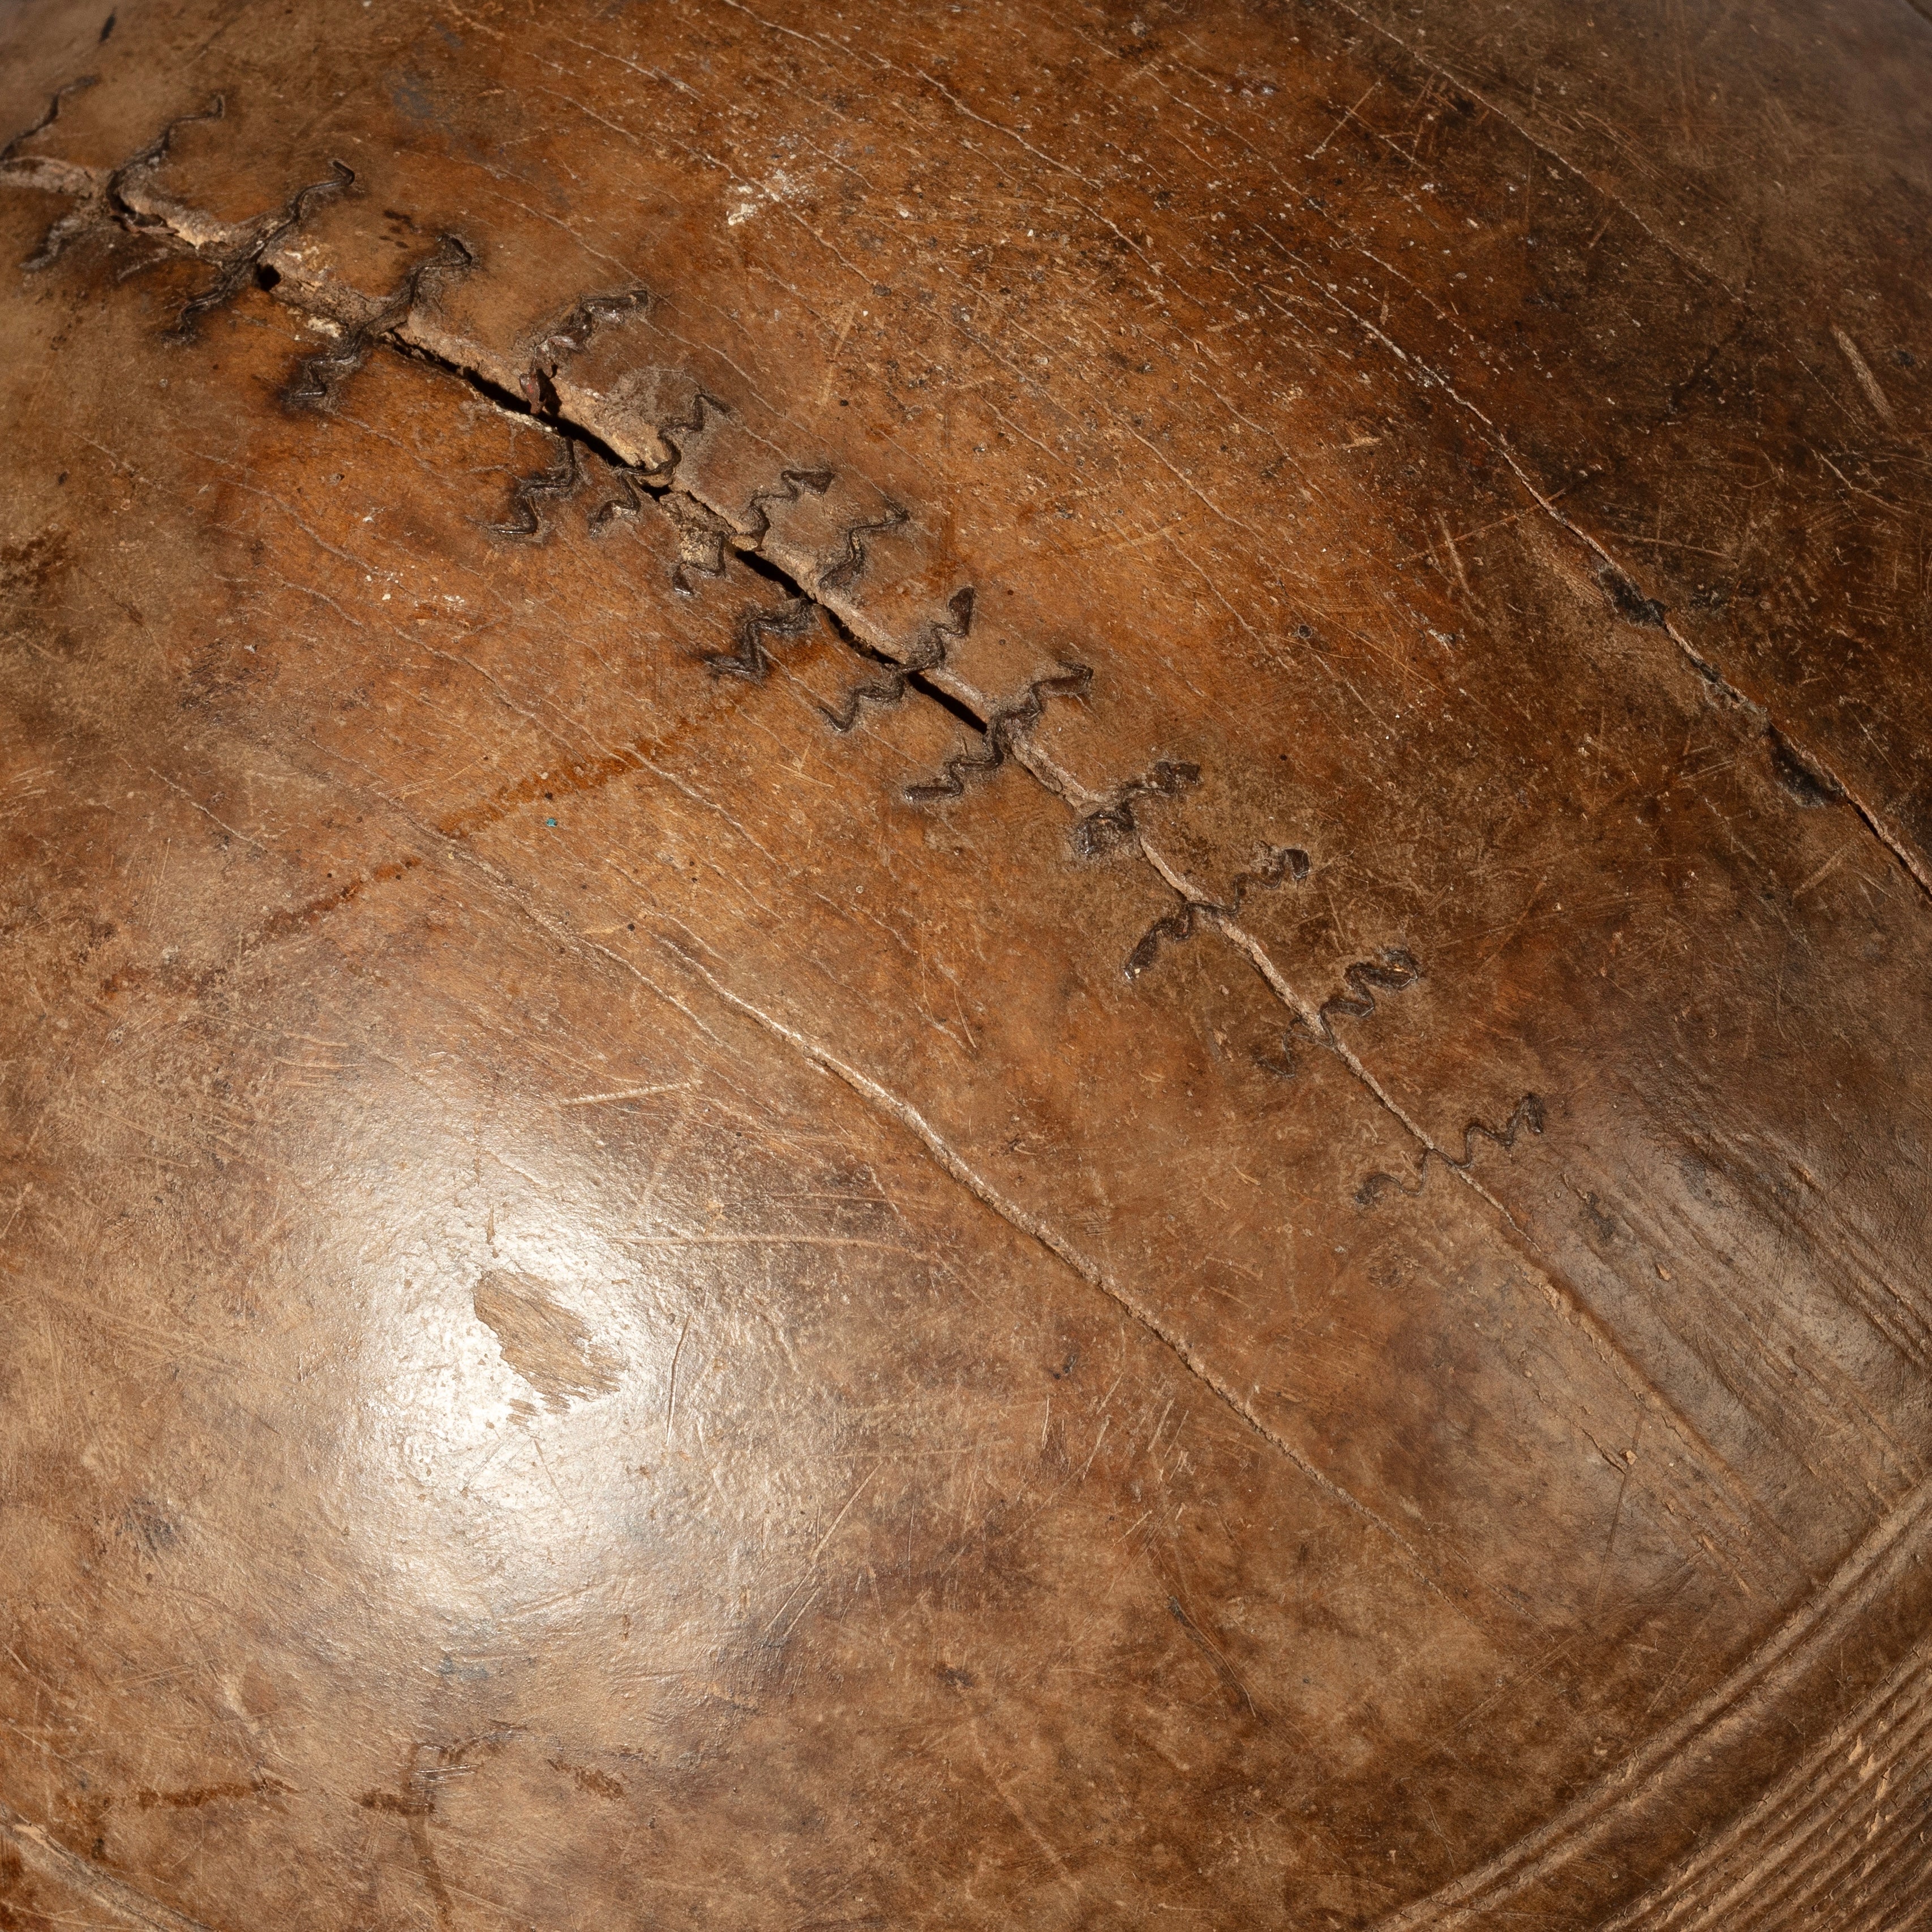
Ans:
{"type": "MultiPolygon", "coordinates": [[[[755,605],[738,614],[732,649],[717,651],[705,661],[713,676],[761,684],[773,668],[775,643],[806,638],[823,624],[864,665],[838,703],[819,705],[819,715],[831,730],[850,732],[867,707],[893,707],[908,694],[952,713],[970,732],[968,742],[929,779],[908,784],[904,798],[916,806],[947,804],[962,798],[974,781],[995,775],[1007,763],[1020,763],[1080,813],[1070,829],[1070,846],[1078,860],[1130,852],[1180,893],[1179,908],[1157,920],[1130,951],[1122,968],[1128,980],[1151,968],[1163,945],[1192,939],[1204,923],[1223,929],[1256,958],[1275,997],[1294,1009],[1281,1034],[1279,1051],[1256,1057],[1256,1063],[1269,1072],[1293,1078],[1298,1045],[1314,1043],[1341,1051],[1333,1034],[1337,1016],[1366,1018],[1376,1010],[1378,991],[1393,993],[1416,983],[1420,978],[1416,962],[1399,949],[1383,949],[1379,962],[1350,964],[1343,974],[1347,991],[1325,999],[1310,1020],[1310,1009],[1289,993],[1281,976],[1264,962],[1258,945],[1233,927],[1254,889],[1275,889],[1283,881],[1300,883],[1308,877],[1312,862],[1304,850],[1269,848],[1254,871],[1235,877],[1225,902],[1186,889],[1146,842],[1136,808],[1146,800],[1177,798],[1192,790],[1202,779],[1198,765],[1179,759],[1153,763],[1140,777],[1095,800],[1030,746],[1030,734],[1051,699],[1084,699],[1092,692],[1094,672],[1088,665],[1063,659],[1032,676],[1018,696],[995,701],[980,696],[951,663],[954,649],[972,632],[974,585],[952,591],[937,612],[927,611],[923,616],[891,624],[867,618],[866,607],[850,603],[846,593],[873,568],[875,539],[910,529],[912,512],[879,498],[869,485],[854,477],[862,502],[867,495],[871,502],[844,520],[829,551],[817,554],[800,551],[792,539],[773,543],[773,512],[802,504],[806,498],[825,498],[838,481],[831,466],[823,462],[781,466],[773,481],[746,485],[730,464],[742,462],[748,450],[755,456],[757,446],[736,448],[717,442],[736,421],[724,398],[690,381],[674,381],[670,394],[659,396],[653,384],[661,373],[643,369],[622,377],[609,398],[574,386],[566,375],[568,363],[585,350],[595,330],[647,313],[649,294],[641,286],[618,294],[583,296],[554,325],[526,342],[520,361],[506,363],[483,346],[440,334],[417,313],[440,280],[468,274],[477,267],[475,251],[454,234],[439,236],[433,251],[415,261],[386,298],[365,296],[340,282],[325,288],[311,270],[303,270],[299,255],[288,249],[288,242],[323,199],[355,191],[355,174],[342,162],[332,164],[328,178],[298,189],[278,211],[240,226],[224,226],[158,195],[137,193],[135,184],[168,158],[178,128],[222,118],[224,106],[218,97],[207,108],[170,122],[112,170],[21,156],[21,145],[50,128],[58,120],[62,100],[83,85],[89,83],[75,81],[56,93],[33,128],[0,149],[0,180],[66,193],[79,203],[56,220],[29,267],[50,263],[89,230],[120,228],[141,234],[160,243],[164,253],[193,255],[218,267],[216,280],[182,309],[174,328],[178,338],[189,338],[203,317],[234,299],[251,282],[338,332],[327,348],[298,361],[284,388],[288,408],[328,413],[338,404],[344,384],[375,350],[388,348],[466,384],[506,415],[539,425],[553,439],[554,458],[543,469],[514,479],[508,514],[481,526],[493,537],[543,541],[545,510],[589,493],[593,497],[585,510],[589,533],[601,533],[620,518],[641,514],[645,502],[663,510],[678,531],[672,589],[682,595],[694,595],[699,578],[724,578],[730,556],[746,558],[757,574],[784,591],[784,603],[775,609],[755,605]],[[647,375],[651,383],[645,383],[643,390],[649,400],[639,404],[638,384],[647,375]],[[620,421],[632,427],[616,427],[620,421]],[[634,435],[638,425],[643,427],[634,435]],[[628,458],[620,444],[634,444],[638,460],[628,458]],[[665,450],[670,452],[668,458],[659,454],[665,450]],[[734,479],[719,481],[724,475],[734,479]],[[773,549],[781,554],[775,556],[773,549]]],[[[1352,1059],[1349,1063],[1358,1078],[1368,1080],[1352,1059]]],[[[1379,1088],[1372,1080],[1368,1084],[1381,1097],[1379,1088]]],[[[1482,1128],[1482,1132],[1490,1138],[1497,1138],[1499,1132],[1513,1136],[1519,1124],[1540,1130],[1540,1111],[1532,1121],[1519,1107],[1505,1130],[1482,1128]]],[[[1472,1130],[1478,1126],[1480,1122],[1472,1122],[1472,1130]]],[[[1466,1167],[1466,1159],[1453,1161],[1439,1150],[1428,1151],[1435,1151],[1445,1165],[1466,1167]]],[[[1426,1159],[1428,1153],[1424,1169],[1426,1159]]],[[[1374,1194],[1383,1184],[1403,1186],[1393,1177],[1370,1177],[1364,1190],[1374,1194]]]]}

